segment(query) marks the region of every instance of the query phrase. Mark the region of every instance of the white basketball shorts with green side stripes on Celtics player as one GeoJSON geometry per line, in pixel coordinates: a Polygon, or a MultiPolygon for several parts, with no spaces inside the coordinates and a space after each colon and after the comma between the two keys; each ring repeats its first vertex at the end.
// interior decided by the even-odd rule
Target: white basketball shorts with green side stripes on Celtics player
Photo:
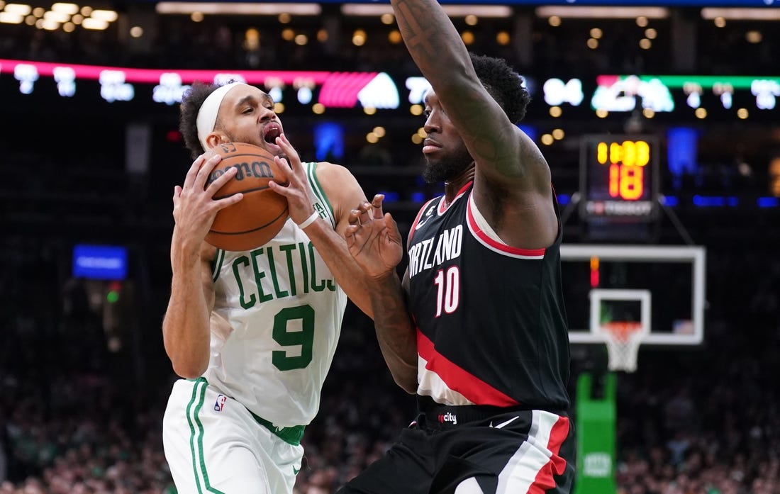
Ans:
{"type": "Polygon", "coordinates": [[[162,439],[179,494],[293,492],[303,427],[278,432],[269,427],[206,379],[176,381],[162,439]]]}

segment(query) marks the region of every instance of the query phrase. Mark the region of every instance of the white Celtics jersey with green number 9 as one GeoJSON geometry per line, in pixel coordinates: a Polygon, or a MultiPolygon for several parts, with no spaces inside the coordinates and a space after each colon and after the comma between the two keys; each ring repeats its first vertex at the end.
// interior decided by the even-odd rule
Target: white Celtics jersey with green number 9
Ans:
{"type": "MultiPolygon", "coordinates": [[[[332,206],[304,164],[314,208],[335,227],[332,206]]],[[[341,330],[346,295],[307,235],[288,218],[271,242],[246,252],[218,249],[215,312],[204,377],[277,427],[307,425],[341,330]],[[224,325],[223,325],[224,326],[224,325]]]]}

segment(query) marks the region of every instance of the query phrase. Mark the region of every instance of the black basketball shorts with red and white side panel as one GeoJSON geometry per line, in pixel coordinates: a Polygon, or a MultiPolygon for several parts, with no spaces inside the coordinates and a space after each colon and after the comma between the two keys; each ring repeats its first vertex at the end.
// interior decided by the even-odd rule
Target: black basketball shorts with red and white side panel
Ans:
{"type": "Polygon", "coordinates": [[[436,407],[403,429],[385,456],[339,494],[569,494],[574,423],[550,411],[474,419],[436,407]]]}

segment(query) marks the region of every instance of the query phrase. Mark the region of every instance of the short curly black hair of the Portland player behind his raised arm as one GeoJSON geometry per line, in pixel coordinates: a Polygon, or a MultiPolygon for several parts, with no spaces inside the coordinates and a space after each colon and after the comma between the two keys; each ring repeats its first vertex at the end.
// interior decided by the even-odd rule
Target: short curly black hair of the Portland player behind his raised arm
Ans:
{"type": "Polygon", "coordinates": [[[530,94],[523,86],[523,77],[507,65],[503,58],[469,53],[474,71],[488,93],[516,124],[526,116],[530,94]]]}

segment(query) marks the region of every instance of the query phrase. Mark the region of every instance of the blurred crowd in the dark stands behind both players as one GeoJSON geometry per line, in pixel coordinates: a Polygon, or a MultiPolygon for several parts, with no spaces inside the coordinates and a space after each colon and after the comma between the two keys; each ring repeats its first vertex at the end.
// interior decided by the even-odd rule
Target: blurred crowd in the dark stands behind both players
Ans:
{"type": "MultiPolygon", "coordinates": [[[[20,281],[0,288],[0,494],[176,492],[161,445],[175,376],[159,328],[143,328],[140,351],[112,346],[99,301],[51,283],[55,252],[6,238],[0,254],[5,279],[20,281]]],[[[639,369],[619,374],[619,494],[780,494],[780,259],[718,245],[708,257],[705,344],[641,349],[639,369]]],[[[575,359],[572,382],[593,368],[575,359]]],[[[350,307],[296,494],[335,492],[413,416],[350,307]]]]}

